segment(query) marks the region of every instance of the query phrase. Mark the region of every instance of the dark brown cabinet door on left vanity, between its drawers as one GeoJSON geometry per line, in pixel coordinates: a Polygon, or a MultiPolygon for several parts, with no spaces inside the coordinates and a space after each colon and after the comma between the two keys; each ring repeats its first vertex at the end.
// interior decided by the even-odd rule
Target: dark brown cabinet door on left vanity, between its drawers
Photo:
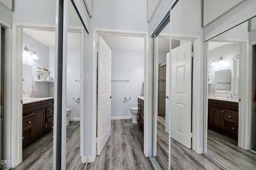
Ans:
{"type": "Polygon", "coordinates": [[[31,136],[44,132],[45,128],[45,109],[32,112],[35,114],[34,126],[31,129],[31,136]]]}

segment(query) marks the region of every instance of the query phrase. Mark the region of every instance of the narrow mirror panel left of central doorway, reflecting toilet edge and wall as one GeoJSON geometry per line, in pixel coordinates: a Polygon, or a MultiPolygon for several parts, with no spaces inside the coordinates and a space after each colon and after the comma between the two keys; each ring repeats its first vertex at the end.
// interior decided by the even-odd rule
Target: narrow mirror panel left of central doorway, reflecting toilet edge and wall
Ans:
{"type": "Polygon", "coordinates": [[[68,0],[68,36],[67,36],[67,91],[66,91],[66,169],[84,169],[86,147],[84,147],[84,113],[81,108],[83,87],[84,51],[87,51],[84,26],[76,10],[68,0]],[[83,133],[83,134],[81,134],[83,133]],[[82,163],[82,158],[83,162],[82,163]],[[85,155],[85,156],[84,156],[85,155]]]}

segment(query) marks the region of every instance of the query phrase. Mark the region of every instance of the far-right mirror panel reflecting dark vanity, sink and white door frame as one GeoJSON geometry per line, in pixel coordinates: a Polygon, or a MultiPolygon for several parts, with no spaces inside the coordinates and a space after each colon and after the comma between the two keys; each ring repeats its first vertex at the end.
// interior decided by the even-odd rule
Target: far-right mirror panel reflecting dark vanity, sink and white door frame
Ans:
{"type": "Polygon", "coordinates": [[[244,22],[207,41],[208,119],[204,153],[226,169],[256,166],[256,31],[250,31],[250,26],[244,22]]]}

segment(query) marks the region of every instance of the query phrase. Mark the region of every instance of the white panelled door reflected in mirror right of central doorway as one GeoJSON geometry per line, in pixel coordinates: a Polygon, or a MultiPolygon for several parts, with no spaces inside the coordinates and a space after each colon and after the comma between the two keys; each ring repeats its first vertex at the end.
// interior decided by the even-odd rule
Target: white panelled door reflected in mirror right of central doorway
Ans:
{"type": "MultiPolygon", "coordinates": [[[[167,55],[167,59],[169,55],[167,55]]],[[[166,62],[169,64],[169,62],[166,62]]],[[[166,64],[166,70],[168,65],[166,64]]],[[[169,78],[166,72],[166,95],[169,78]],[[168,79],[167,79],[168,78],[168,79]]],[[[171,138],[191,148],[192,42],[172,49],[171,53],[171,138]]],[[[166,100],[168,101],[168,100],[166,100]]],[[[167,104],[167,103],[166,103],[167,104]]],[[[166,105],[166,108],[167,105],[166,105]]],[[[168,113],[168,112],[167,112],[168,113]]],[[[168,114],[166,114],[168,115],[168,114]]]]}

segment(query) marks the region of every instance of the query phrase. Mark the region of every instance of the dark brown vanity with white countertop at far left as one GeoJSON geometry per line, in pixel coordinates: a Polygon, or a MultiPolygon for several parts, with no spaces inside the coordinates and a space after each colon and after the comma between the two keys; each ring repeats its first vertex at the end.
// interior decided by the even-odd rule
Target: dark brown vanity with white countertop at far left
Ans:
{"type": "Polygon", "coordinates": [[[53,97],[23,99],[22,150],[51,131],[53,110],[53,97]]]}

